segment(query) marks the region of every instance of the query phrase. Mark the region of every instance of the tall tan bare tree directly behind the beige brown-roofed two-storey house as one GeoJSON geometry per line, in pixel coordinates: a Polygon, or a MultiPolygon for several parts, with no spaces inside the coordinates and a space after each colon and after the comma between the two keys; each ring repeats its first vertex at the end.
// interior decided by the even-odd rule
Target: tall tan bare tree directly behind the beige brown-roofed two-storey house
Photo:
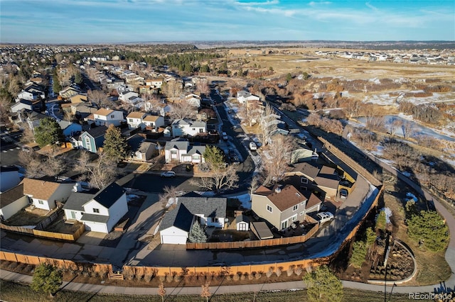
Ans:
{"type": "Polygon", "coordinates": [[[282,179],[291,162],[291,152],[294,144],[288,136],[275,135],[272,142],[262,152],[262,164],[267,174],[266,184],[272,184],[282,179]]]}

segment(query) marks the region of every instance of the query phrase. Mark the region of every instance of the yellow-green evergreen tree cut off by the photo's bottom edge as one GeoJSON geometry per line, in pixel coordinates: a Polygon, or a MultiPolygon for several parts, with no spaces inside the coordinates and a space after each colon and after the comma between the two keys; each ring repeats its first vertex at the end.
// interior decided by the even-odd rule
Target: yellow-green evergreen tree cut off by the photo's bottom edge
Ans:
{"type": "Polygon", "coordinates": [[[304,276],[309,301],[338,302],[343,300],[343,285],[326,265],[304,276]]]}

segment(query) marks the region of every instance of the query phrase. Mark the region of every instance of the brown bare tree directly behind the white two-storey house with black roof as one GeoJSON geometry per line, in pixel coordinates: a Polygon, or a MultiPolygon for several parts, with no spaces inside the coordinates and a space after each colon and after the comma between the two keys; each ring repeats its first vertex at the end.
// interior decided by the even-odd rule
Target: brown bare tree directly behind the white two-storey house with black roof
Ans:
{"type": "Polygon", "coordinates": [[[75,165],[77,171],[85,174],[92,186],[97,189],[102,189],[112,183],[117,176],[117,165],[107,159],[104,153],[100,153],[100,157],[92,162],[90,160],[90,152],[81,152],[75,165]]]}

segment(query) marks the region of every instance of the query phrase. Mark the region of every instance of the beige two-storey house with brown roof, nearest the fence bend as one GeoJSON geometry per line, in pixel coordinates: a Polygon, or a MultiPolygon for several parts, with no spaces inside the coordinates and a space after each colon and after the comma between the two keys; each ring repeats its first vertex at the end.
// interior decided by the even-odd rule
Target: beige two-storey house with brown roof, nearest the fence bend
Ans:
{"type": "Polygon", "coordinates": [[[302,222],[307,213],[317,212],[321,200],[310,192],[302,193],[292,185],[276,186],[272,191],[260,186],[252,194],[251,208],[278,230],[283,230],[297,221],[302,222]]]}

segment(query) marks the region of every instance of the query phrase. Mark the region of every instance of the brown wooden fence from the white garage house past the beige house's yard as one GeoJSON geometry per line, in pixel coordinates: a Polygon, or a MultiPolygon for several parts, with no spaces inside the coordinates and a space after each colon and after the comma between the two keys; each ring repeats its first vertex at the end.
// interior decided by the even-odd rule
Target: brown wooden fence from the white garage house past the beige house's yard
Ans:
{"type": "Polygon", "coordinates": [[[313,226],[308,233],[301,236],[234,242],[187,242],[187,250],[230,250],[255,247],[273,247],[279,245],[293,245],[309,240],[319,230],[319,223],[313,226]]]}

